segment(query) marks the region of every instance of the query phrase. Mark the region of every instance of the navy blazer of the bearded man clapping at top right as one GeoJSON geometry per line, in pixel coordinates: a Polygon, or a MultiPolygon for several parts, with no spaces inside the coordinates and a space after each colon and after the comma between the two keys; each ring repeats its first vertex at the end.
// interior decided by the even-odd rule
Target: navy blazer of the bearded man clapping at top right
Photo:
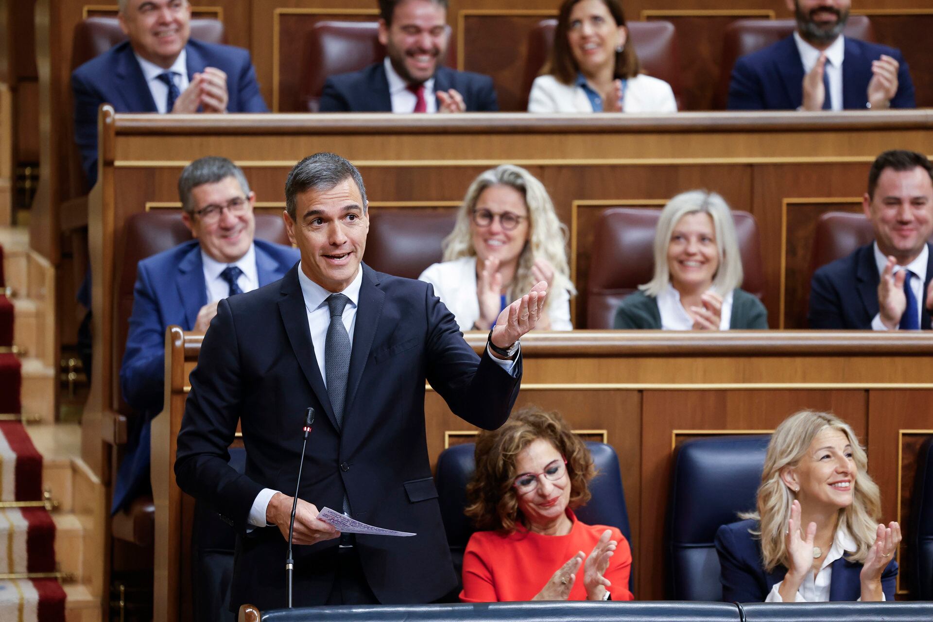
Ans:
{"type": "MultiPolygon", "coordinates": [[[[882,54],[896,60],[898,92],[892,108],[913,108],[911,72],[900,50],[845,37],[842,60],[842,108],[868,105],[871,62],[882,54]]],[[[729,110],[795,110],[803,104],[803,62],[793,35],[735,62],[729,83],[729,110]]]]}

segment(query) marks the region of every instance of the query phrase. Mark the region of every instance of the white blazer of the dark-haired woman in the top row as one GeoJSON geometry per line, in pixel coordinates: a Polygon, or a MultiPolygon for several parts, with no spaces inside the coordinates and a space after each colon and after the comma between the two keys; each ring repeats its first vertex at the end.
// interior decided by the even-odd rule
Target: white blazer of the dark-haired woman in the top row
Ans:
{"type": "MultiPolygon", "coordinates": [[[[674,90],[667,82],[645,74],[628,79],[622,112],[676,111],[674,90]]],[[[528,96],[528,112],[592,112],[592,104],[580,87],[554,76],[537,76],[528,96]]]]}

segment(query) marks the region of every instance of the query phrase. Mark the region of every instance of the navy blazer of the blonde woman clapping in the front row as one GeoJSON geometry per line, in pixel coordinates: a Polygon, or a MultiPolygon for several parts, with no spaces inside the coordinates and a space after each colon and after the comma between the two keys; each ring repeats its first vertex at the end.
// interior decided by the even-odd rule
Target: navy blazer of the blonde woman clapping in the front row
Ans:
{"type": "MultiPolygon", "coordinates": [[[[764,602],[776,583],[784,580],[787,568],[777,566],[770,573],[764,571],[761,560],[761,542],[748,532],[757,527],[755,520],[740,520],[723,525],[716,532],[716,550],[719,554],[719,579],[722,581],[724,602],[764,602]]],[[[829,582],[830,601],[857,601],[861,596],[858,574],[862,564],[847,561],[845,556],[832,562],[829,582]]],[[[884,599],[894,601],[898,562],[891,560],[881,575],[884,599]]]]}

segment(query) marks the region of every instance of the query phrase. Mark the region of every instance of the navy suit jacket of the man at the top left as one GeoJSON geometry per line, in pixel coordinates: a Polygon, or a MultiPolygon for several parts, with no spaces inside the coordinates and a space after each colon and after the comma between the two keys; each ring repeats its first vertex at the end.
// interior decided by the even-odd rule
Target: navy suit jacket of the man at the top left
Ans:
{"type": "MultiPolygon", "coordinates": [[[[229,112],[269,112],[259,93],[256,71],[243,48],[188,40],[188,79],[216,67],[227,74],[229,112]]],[[[111,104],[117,112],[158,112],[146,76],[129,41],[85,62],[71,75],[75,97],[75,142],[88,186],[97,180],[97,108],[111,104]]]]}

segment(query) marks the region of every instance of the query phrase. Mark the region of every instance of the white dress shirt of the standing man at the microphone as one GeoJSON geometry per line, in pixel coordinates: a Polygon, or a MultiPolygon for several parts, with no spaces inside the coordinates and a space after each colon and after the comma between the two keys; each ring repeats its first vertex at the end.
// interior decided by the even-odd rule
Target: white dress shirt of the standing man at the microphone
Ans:
{"type": "MultiPolygon", "coordinates": [[[[325,387],[327,387],[324,349],[327,344],[327,327],[330,325],[330,310],[327,307],[327,297],[330,296],[331,292],[328,292],[324,287],[321,287],[319,284],[309,279],[304,273],[304,270],[301,270],[300,264],[298,267],[298,281],[301,285],[301,295],[304,296],[304,308],[308,313],[308,328],[311,331],[314,358],[317,360],[317,368],[321,370],[321,378],[324,380],[325,387]]],[[[353,282],[347,285],[346,289],[341,292],[345,297],[350,298],[350,302],[348,302],[347,306],[343,309],[342,320],[343,325],[346,326],[347,334],[350,336],[351,345],[353,344],[354,328],[356,325],[356,307],[359,303],[359,288],[362,283],[363,270],[360,268],[360,270],[356,271],[356,277],[353,282]]],[[[501,366],[513,376],[515,375],[515,363],[518,361],[517,356],[510,361],[503,361],[494,356],[492,358],[497,365],[501,366]]],[[[269,501],[276,492],[278,491],[273,491],[269,488],[264,488],[259,491],[259,494],[256,495],[256,499],[253,501],[253,505],[249,510],[248,523],[250,525],[255,527],[268,526],[266,522],[266,510],[269,508],[269,501]]]]}

